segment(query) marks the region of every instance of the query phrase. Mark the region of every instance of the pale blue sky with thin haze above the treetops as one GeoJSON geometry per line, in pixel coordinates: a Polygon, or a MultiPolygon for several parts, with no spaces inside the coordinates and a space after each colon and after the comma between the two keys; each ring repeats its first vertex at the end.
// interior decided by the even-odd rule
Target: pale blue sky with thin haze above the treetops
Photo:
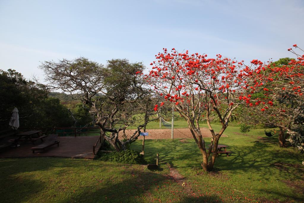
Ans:
{"type": "Polygon", "coordinates": [[[43,80],[43,61],[143,62],[162,48],[249,62],[304,47],[304,1],[0,0],[0,69],[43,80]]]}

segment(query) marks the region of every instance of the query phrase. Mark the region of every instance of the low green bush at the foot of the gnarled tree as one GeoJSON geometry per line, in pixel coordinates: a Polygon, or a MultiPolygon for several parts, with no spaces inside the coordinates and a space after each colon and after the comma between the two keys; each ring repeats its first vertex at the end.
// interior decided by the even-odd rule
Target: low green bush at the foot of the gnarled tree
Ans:
{"type": "Polygon", "coordinates": [[[117,163],[127,163],[127,164],[144,164],[147,161],[143,158],[143,155],[134,151],[126,149],[120,152],[111,153],[100,153],[98,155],[98,160],[117,162],[117,163]]]}

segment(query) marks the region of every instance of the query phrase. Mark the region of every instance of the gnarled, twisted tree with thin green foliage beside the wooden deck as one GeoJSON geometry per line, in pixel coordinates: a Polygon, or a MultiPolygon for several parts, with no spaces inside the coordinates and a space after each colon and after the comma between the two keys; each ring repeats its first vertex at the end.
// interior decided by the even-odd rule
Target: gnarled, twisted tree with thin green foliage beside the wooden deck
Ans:
{"type": "Polygon", "coordinates": [[[104,67],[81,57],[71,61],[45,61],[40,68],[45,72],[46,87],[69,93],[74,100],[90,107],[95,125],[116,151],[125,150],[153,120],[154,106],[140,77],[144,68],[141,63],[112,59],[104,67]],[[101,96],[96,97],[97,94],[101,96]],[[136,126],[137,130],[122,140],[119,132],[125,135],[129,126],[136,126]]]}

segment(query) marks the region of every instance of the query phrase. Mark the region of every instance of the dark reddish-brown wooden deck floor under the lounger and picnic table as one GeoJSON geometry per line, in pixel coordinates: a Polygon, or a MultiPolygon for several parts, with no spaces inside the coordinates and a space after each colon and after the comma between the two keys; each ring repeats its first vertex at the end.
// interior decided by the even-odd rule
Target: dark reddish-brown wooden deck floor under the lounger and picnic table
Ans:
{"type": "MultiPolygon", "coordinates": [[[[95,156],[93,155],[93,145],[95,145],[98,137],[99,136],[58,137],[57,140],[60,141],[59,147],[54,145],[45,152],[35,151],[34,154],[31,150],[31,147],[34,145],[31,142],[19,142],[19,147],[0,152],[0,158],[57,156],[93,159],[95,156]]],[[[40,140],[37,140],[35,145],[41,143],[40,140]]],[[[99,147],[100,143],[96,146],[95,152],[98,151],[99,147]]]]}

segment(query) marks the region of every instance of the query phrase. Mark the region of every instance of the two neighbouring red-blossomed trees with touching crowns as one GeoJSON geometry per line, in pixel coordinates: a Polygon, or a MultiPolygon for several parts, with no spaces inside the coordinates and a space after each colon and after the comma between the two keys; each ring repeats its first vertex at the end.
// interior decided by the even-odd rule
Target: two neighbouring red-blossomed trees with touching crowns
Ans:
{"type": "MultiPolygon", "coordinates": [[[[294,47],[298,48],[296,44],[294,47]]],[[[303,152],[304,55],[296,55],[297,60],[285,58],[268,64],[252,60],[245,65],[220,54],[207,58],[198,53],[190,55],[188,51],[178,53],[174,48],[171,52],[163,49],[144,78],[163,100],[161,106],[167,101],[173,103],[188,122],[202,153],[202,167],[210,171],[217,157],[219,138],[237,108],[246,118],[244,122],[249,123],[251,118],[253,124],[278,127],[280,145],[286,147],[289,137],[288,141],[303,152]],[[211,116],[218,117],[222,125],[219,132],[213,130],[211,116]],[[201,117],[206,118],[212,133],[209,146],[199,129],[201,117]]]]}

